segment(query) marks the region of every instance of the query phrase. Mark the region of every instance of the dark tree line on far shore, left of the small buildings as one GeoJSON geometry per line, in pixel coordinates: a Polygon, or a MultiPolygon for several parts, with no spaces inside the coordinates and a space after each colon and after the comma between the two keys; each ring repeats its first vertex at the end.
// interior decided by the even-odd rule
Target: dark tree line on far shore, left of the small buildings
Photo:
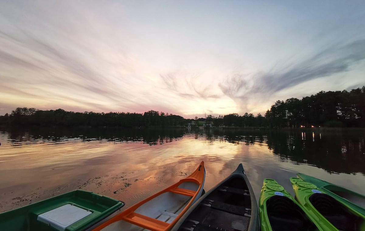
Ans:
{"type": "Polygon", "coordinates": [[[147,111],[141,113],[95,113],[85,111],[73,112],[62,109],[38,110],[35,108],[18,107],[10,115],[0,117],[0,124],[17,126],[184,126],[190,122],[181,116],[173,114],[147,111]]]}

